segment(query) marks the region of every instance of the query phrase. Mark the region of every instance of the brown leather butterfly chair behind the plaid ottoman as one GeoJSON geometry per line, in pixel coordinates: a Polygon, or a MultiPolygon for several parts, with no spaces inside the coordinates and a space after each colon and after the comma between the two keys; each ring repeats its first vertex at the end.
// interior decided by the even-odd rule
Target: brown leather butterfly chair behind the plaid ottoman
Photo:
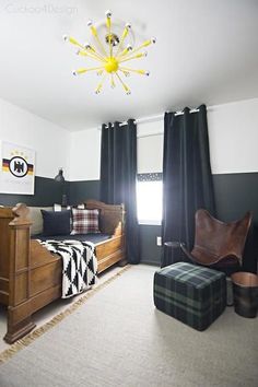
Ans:
{"type": "Polygon", "coordinates": [[[180,248],[191,261],[231,275],[242,266],[250,222],[250,212],[236,222],[223,223],[207,210],[198,210],[194,249],[189,253],[184,244],[180,248]]]}

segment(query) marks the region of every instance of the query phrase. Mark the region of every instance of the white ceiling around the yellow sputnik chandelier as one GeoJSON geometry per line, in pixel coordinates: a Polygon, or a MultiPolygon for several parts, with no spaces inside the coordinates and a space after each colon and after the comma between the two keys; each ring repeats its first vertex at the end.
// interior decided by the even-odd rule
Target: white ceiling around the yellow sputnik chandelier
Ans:
{"type": "MultiPolygon", "coordinates": [[[[139,60],[140,63],[140,60],[139,60]]],[[[257,0],[0,1],[0,97],[70,130],[178,109],[258,97],[257,0]],[[73,77],[83,58],[62,40],[89,40],[89,19],[130,22],[156,45],[131,75],[132,91],[94,73],[73,77]]]]}

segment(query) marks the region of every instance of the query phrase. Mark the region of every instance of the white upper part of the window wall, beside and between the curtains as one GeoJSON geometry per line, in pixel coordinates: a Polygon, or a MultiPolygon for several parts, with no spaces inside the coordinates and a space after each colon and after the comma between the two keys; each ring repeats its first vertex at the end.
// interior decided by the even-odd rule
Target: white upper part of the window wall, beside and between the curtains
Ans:
{"type": "MultiPolygon", "coordinates": [[[[258,98],[208,109],[213,174],[258,172],[258,98]]],[[[162,172],[163,119],[138,125],[138,172],[162,172]],[[149,136],[154,134],[154,136],[149,136]]],[[[71,133],[71,180],[99,179],[101,130],[71,133]]]]}

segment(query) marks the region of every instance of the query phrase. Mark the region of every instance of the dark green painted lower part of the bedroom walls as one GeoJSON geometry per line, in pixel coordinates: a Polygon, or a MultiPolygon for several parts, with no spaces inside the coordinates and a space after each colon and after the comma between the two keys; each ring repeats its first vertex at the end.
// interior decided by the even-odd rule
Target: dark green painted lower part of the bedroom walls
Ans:
{"type": "MultiPolygon", "coordinates": [[[[258,257],[258,173],[220,174],[213,175],[218,218],[230,222],[242,218],[246,211],[254,215],[253,233],[254,245],[248,255],[256,268],[255,258],[258,257]]],[[[78,204],[85,199],[99,199],[99,180],[68,181],[66,183],[68,202],[78,204]]],[[[51,206],[61,202],[63,186],[54,179],[36,177],[35,195],[4,195],[0,194],[0,204],[14,206],[25,202],[30,206],[51,206]]],[[[159,225],[140,225],[141,261],[159,265],[161,247],[156,246],[156,236],[161,235],[159,225]]]]}

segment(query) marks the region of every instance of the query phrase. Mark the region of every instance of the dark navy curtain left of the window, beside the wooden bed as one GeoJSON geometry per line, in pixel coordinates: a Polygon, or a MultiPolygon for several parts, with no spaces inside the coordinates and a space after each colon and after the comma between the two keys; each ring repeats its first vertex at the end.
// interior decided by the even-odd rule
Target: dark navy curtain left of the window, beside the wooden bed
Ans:
{"type": "Polygon", "coordinates": [[[126,207],[127,259],[139,263],[139,226],[137,221],[137,126],[129,119],[102,127],[101,199],[126,207]]]}

